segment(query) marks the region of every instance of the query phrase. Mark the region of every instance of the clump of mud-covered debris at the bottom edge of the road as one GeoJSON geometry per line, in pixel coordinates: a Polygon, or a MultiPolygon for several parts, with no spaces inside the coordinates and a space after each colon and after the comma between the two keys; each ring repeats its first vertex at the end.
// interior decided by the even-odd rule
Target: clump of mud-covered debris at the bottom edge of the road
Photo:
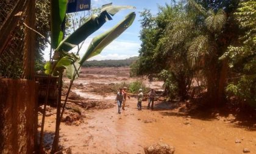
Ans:
{"type": "Polygon", "coordinates": [[[145,154],[173,154],[175,148],[165,143],[157,143],[144,147],[144,152],[145,154]]]}

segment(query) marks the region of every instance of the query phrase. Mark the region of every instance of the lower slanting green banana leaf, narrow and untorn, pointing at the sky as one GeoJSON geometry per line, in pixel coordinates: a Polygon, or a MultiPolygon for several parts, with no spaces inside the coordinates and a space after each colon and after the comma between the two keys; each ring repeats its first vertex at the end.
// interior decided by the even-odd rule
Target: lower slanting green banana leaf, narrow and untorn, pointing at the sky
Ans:
{"type": "Polygon", "coordinates": [[[115,40],[133,23],[135,16],[135,12],[129,13],[129,15],[127,15],[126,18],[115,27],[105,33],[102,33],[101,35],[98,35],[97,37],[94,37],[87,49],[87,52],[85,52],[85,55],[79,61],[80,65],[82,65],[85,60],[88,60],[88,58],[100,54],[105,46],[115,40]]]}

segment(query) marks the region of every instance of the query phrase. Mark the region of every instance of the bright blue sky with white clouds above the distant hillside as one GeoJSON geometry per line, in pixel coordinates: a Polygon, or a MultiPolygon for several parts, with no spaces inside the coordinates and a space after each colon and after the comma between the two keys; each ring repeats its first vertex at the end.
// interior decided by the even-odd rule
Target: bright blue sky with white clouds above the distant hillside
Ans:
{"type": "MultiPolygon", "coordinates": [[[[96,55],[89,60],[119,60],[126,59],[133,56],[138,56],[138,51],[140,49],[140,13],[143,9],[150,9],[152,14],[157,14],[158,5],[169,4],[171,0],[91,0],[91,7],[101,7],[104,4],[112,2],[113,5],[132,5],[136,9],[121,10],[113,16],[113,20],[107,21],[98,31],[94,32],[90,37],[85,40],[84,45],[80,51],[80,56],[85,54],[87,47],[89,46],[91,40],[102,32],[110,29],[119,23],[124,17],[130,13],[135,12],[136,18],[133,21],[132,26],[130,26],[124,33],[122,33],[116,40],[108,44],[107,47],[103,49],[101,54],[96,55]]],[[[74,49],[75,51],[76,49],[74,49]]],[[[49,47],[44,51],[44,59],[49,60],[49,47]]]]}

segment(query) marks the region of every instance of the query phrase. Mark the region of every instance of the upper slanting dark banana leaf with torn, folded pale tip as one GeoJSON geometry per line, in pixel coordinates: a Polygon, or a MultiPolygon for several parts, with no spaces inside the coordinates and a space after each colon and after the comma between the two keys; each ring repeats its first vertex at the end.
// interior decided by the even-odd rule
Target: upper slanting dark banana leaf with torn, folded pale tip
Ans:
{"type": "Polygon", "coordinates": [[[113,16],[122,9],[133,9],[133,7],[130,6],[113,6],[112,4],[107,5],[108,7],[105,9],[104,5],[102,6],[102,9],[104,10],[102,10],[99,15],[92,15],[85,21],[84,24],[82,24],[82,26],[65,38],[65,40],[60,43],[59,47],[57,47],[55,51],[70,51],[73,49],[73,47],[76,47],[78,44],[84,41],[89,35],[91,35],[91,33],[98,30],[105,22],[111,20],[112,18],[110,15],[113,16]]]}

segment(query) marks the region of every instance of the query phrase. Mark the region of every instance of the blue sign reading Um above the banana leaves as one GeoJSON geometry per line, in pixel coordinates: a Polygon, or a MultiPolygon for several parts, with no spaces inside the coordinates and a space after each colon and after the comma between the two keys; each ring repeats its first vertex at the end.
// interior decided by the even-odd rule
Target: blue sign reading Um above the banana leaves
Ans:
{"type": "Polygon", "coordinates": [[[68,0],[66,13],[79,12],[91,9],[91,0],[68,0]]]}

